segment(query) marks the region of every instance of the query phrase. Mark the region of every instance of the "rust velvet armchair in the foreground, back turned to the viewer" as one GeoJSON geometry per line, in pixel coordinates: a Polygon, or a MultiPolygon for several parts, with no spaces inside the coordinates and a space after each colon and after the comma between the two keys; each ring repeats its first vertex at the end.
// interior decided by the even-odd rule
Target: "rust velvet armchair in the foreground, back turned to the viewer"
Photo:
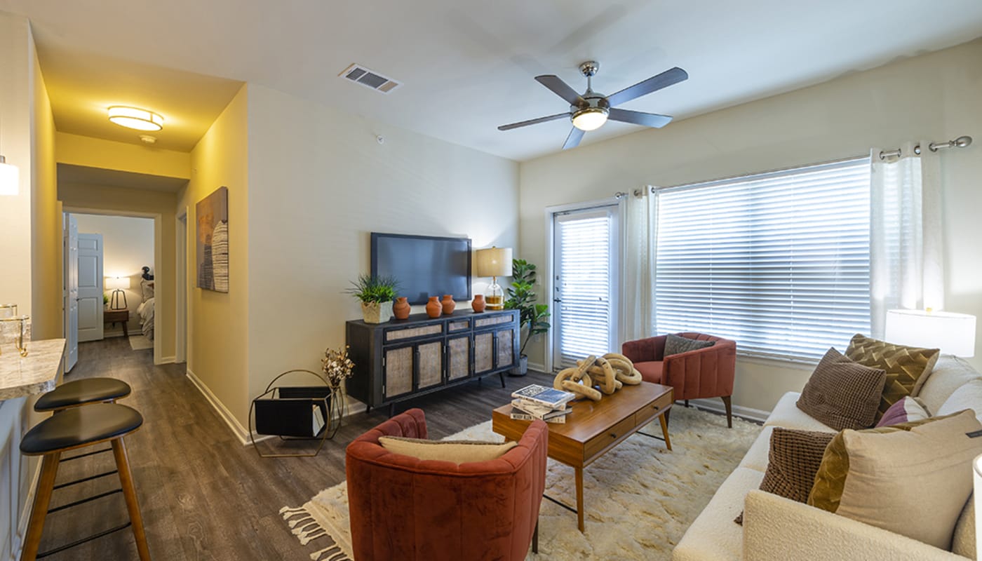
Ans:
{"type": "Polygon", "coordinates": [[[524,559],[545,489],[545,422],[533,421],[518,446],[486,462],[419,460],[378,441],[426,435],[423,412],[410,409],[348,446],[355,559],[524,559]]]}

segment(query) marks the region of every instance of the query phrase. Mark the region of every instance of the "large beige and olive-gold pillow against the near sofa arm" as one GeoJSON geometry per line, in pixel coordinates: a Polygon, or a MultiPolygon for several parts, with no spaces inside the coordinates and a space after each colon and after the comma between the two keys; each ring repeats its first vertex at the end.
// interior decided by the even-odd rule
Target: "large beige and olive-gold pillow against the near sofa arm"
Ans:
{"type": "Polygon", "coordinates": [[[982,429],[971,411],[832,439],[808,504],[950,550],[955,523],[972,492],[972,460],[982,429]]]}

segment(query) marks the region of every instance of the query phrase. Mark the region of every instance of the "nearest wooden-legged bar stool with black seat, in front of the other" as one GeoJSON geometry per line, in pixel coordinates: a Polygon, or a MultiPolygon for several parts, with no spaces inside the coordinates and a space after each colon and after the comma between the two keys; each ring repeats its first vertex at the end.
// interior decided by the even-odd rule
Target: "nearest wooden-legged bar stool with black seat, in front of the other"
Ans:
{"type": "MultiPolygon", "coordinates": [[[[123,437],[135,431],[141,424],[143,424],[143,418],[136,410],[125,405],[107,403],[65,409],[57,415],[38,422],[27,431],[24,439],[21,440],[21,452],[26,456],[43,456],[43,460],[41,461],[41,476],[37,483],[37,493],[34,495],[34,504],[30,509],[30,521],[27,523],[27,538],[25,539],[24,552],[21,554],[21,561],[34,561],[37,557],[44,557],[69,547],[75,547],[96,537],[118,532],[130,526],[133,527],[136,550],[139,552],[140,560],[149,561],[150,550],[146,545],[146,533],[143,531],[143,519],[139,513],[139,504],[136,500],[136,488],[133,484],[133,474],[130,471],[130,460],[127,456],[126,444],[123,442],[123,437]],[[55,488],[55,477],[58,475],[58,464],[61,461],[62,453],[107,441],[112,444],[121,488],[49,511],[48,505],[55,488]],[[130,513],[129,523],[38,555],[37,547],[44,530],[44,519],[49,512],[77,506],[119,491],[123,492],[126,499],[127,510],[130,513]]],[[[69,459],[72,458],[66,460],[69,459]]],[[[94,477],[82,480],[90,478],[94,477]]],[[[63,485],[59,485],[59,487],[61,486],[63,485]]]]}

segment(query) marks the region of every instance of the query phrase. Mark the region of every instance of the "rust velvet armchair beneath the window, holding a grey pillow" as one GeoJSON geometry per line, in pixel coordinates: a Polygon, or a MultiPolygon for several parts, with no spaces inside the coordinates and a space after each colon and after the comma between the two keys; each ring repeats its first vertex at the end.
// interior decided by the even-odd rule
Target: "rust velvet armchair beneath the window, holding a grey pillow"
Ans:
{"type": "Polygon", "coordinates": [[[621,353],[634,363],[641,378],[675,388],[677,400],[718,397],[727,409],[727,425],[733,428],[736,342],[704,333],[675,333],[697,341],[713,341],[712,347],[665,356],[667,335],[627,341],[621,353]]]}

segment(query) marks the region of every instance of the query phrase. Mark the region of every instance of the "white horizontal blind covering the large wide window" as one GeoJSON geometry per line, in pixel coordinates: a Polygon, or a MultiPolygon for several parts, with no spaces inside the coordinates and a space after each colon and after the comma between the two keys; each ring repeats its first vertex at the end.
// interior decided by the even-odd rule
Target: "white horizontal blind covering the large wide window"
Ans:
{"type": "Polygon", "coordinates": [[[661,190],[655,333],[821,357],[869,332],[869,159],[661,190]]]}

